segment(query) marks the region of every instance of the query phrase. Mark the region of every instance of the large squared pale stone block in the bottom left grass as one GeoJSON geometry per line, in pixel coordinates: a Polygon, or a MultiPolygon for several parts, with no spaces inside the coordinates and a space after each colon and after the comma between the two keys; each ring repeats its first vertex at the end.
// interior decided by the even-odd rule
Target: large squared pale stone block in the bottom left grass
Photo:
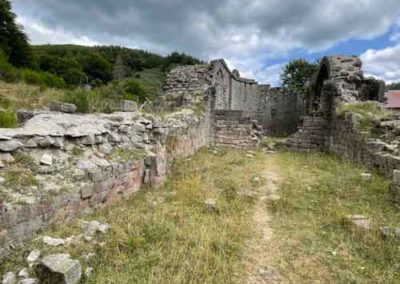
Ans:
{"type": "Polygon", "coordinates": [[[52,254],[43,258],[36,267],[40,283],[77,284],[82,277],[82,268],[68,254],[52,254]]]}

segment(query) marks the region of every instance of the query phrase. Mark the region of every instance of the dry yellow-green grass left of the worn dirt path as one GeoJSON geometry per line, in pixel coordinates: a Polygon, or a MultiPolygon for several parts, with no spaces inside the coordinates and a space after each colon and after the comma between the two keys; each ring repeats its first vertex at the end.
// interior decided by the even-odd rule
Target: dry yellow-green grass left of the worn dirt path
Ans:
{"type": "MultiPolygon", "coordinates": [[[[111,224],[100,243],[49,249],[38,238],[33,245],[44,254],[68,251],[84,267],[94,267],[94,277],[85,283],[240,282],[253,199],[239,193],[254,189],[251,180],[263,167],[264,156],[257,153],[248,159],[244,151],[210,152],[203,149],[175,163],[161,189],[143,189],[87,217],[111,224]],[[206,209],[208,198],[216,199],[215,210],[206,209]],[[96,256],[85,262],[82,255],[89,252],[96,256]]],[[[45,235],[69,237],[79,232],[79,222],[74,222],[55,226],[45,235]]],[[[0,264],[0,273],[24,263],[29,250],[0,264]]]]}

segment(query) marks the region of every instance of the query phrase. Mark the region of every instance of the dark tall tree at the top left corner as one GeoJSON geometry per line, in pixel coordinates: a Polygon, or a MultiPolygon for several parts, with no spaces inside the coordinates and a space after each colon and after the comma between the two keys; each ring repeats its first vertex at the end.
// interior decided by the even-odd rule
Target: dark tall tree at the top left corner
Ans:
{"type": "Polygon", "coordinates": [[[0,48],[17,67],[32,67],[33,52],[28,37],[15,21],[9,0],[0,0],[0,48]]]}

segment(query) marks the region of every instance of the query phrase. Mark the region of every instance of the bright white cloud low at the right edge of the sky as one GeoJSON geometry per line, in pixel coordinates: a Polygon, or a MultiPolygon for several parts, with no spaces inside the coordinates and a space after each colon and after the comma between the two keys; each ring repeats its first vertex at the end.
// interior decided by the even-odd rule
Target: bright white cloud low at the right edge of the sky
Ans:
{"type": "Polygon", "coordinates": [[[384,49],[369,49],[361,55],[366,74],[385,80],[400,82],[400,44],[384,49]]]}

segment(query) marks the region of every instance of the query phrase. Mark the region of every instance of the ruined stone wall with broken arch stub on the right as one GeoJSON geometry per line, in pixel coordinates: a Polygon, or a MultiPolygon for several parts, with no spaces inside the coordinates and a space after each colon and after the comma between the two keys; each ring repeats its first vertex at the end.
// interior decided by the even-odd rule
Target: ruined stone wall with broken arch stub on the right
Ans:
{"type": "Polygon", "coordinates": [[[325,58],[319,72],[326,62],[332,70],[328,76],[324,74],[322,81],[314,82],[314,86],[320,84],[320,94],[315,94],[314,101],[310,102],[308,116],[304,118],[301,129],[288,139],[288,148],[302,152],[335,153],[392,177],[394,171],[400,169],[400,152],[396,153],[396,146],[392,145],[398,145],[395,133],[400,129],[400,121],[379,122],[375,126],[375,130],[384,133],[382,137],[392,139],[385,142],[377,137],[363,136],[358,130],[360,122],[357,114],[347,113],[344,118],[336,115],[336,108],[341,103],[382,101],[384,84],[379,80],[363,78],[361,61],[357,57],[325,58]]]}

